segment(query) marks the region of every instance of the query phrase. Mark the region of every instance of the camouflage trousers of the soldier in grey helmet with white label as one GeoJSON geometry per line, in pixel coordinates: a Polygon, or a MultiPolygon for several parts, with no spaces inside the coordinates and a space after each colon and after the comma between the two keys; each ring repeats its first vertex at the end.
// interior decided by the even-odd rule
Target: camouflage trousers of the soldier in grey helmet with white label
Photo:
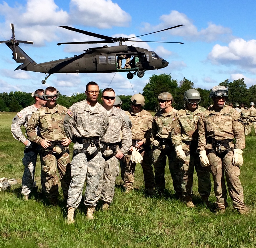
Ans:
{"type": "Polygon", "coordinates": [[[202,195],[210,195],[211,179],[209,167],[202,167],[197,154],[188,155],[185,162],[179,161],[182,170],[182,196],[192,195],[194,168],[196,169],[198,178],[198,193],[202,195]]]}

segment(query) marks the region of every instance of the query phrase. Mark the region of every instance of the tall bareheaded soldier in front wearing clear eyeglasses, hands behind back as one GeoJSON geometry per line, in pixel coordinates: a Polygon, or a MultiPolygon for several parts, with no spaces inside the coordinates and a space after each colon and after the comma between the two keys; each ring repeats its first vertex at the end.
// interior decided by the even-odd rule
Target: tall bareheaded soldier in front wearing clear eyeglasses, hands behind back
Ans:
{"type": "Polygon", "coordinates": [[[98,102],[99,86],[95,82],[86,85],[87,99],[73,104],[64,119],[67,137],[74,143],[71,162],[71,183],[68,190],[68,223],[74,223],[74,210],[78,208],[86,180],[84,204],[86,217],[93,219],[93,212],[100,199],[104,171],[104,159],[100,139],[106,132],[108,116],[98,102]]]}

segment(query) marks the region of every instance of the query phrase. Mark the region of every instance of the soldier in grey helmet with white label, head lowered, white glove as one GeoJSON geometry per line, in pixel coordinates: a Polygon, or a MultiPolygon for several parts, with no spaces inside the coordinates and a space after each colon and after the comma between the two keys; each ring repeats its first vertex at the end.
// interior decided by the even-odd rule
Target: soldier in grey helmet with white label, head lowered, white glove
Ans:
{"type": "Polygon", "coordinates": [[[209,168],[200,166],[199,154],[196,152],[198,144],[197,122],[206,109],[198,106],[201,97],[195,89],[189,89],[185,92],[184,101],[185,110],[179,110],[172,122],[172,142],[182,170],[182,198],[188,207],[193,208],[195,205],[191,196],[194,167],[198,177],[198,192],[206,204],[208,204],[208,197],[211,192],[209,168]]]}

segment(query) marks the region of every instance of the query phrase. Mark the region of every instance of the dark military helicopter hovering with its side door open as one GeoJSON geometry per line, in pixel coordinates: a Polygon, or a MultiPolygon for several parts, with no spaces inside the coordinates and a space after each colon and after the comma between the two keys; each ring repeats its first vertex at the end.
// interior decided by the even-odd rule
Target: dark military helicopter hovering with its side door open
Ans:
{"type": "MultiPolygon", "coordinates": [[[[144,72],[147,70],[158,70],[168,65],[168,62],[163,58],[159,57],[154,51],[148,51],[145,48],[126,46],[122,45],[122,42],[160,42],[160,43],[179,43],[182,42],[165,42],[165,41],[141,41],[131,40],[133,38],[150,35],[157,32],[181,27],[184,25],[177,25],[174,27],[166,28],[152,33],[139,35],[135,37],[118,37],[113,38],[97,33],[84,31],[77,28],[68,26],[60,26],[71,31],[83,33],[92,37],[100,38],[103,40],[97,41],[81,41],[81,42],[62,42],[61,44],[97,44],[97,43],[116,43],[119,42],[119,46],[103,46],[103,47],[92,47],[84,50],[85,53],[80,55],[74,55],[71,58],[52,60],[37,64],[31,59],[20,47],[19,43],[33,44],[33,41],[16,40],[14,34],[14,25],[10,24],[12,30],[12,38],[6,41],[0,41],[5,43],[13,51],[13,59],[17,63],[21,63],[16,70],[33,71],[45,73],[46,77],[42,80],[42,84],[46,83],[47,78],[53,73],[109,73],[109,72],[128,72],[127,78],[132,79],[133,75],[137,73],[138,77],[143,77],[144,72]],[[125,59],[129,61],[128,66],[122,68],[120,61],[125,59]]],[[[122,62],[121,62],[122,63],[122,62]]]]}

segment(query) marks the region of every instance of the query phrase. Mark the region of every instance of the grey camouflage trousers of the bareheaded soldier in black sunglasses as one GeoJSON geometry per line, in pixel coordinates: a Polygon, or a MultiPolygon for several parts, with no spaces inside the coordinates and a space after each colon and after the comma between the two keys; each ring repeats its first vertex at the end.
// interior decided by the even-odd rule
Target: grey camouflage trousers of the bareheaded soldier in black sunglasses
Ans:
{"type": "Polygon", "coordinates": [[[115,179],[119,175],[118,159],[113,156],[105,161],[101,199],[111,203],[115,194],[115,179]]]}

